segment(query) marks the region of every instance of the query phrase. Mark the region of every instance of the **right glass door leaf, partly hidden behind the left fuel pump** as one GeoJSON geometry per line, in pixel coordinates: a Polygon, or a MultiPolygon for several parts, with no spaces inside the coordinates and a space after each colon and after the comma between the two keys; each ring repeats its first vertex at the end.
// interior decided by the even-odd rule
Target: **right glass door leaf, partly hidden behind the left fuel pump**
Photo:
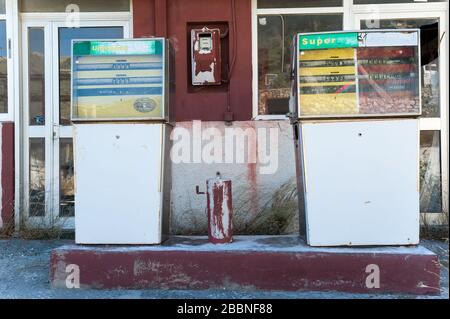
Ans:
{"type": "Polygon", "coordinates": [[[75,190],[73,166],[73,133],[70,122],[71,99],[71,44],[73,39],[119,39],[124,37],[123,25],[108,22],[82,23],[79,28],[68,28],[64,23],[53,23],[53,206],[59,221],[68,221],[73,228],[75,190]]]}

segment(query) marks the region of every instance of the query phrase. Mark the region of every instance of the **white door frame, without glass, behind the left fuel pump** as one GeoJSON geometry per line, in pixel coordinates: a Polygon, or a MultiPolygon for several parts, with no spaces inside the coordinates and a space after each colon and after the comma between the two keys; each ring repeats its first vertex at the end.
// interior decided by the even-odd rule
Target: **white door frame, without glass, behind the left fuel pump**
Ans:
{"type": "MultiPolygon", "coordinates": [[[[20,13],[19,33],[21,37],[20,60],[20,96],[22,110],[17,114],[16,123],[21,123],[19,135],[15,142],[20,149],[16,159],[16,231],[25,225],[39,228],[39,225],[52,225],[55,220],[62,229],[74,229],[73,217],[59,217],[59,140],[72,137],[72,126],[59,125],[59,34],[58,28],[65,27],[67,14],[62,13],[20,13]],[[43,127],[28,125],[28,38],[25,32],[28,27],[44,26],[45,28],[45,121],[43,127]],[[51,112],[49,111],[51,110],[51,112]],[[48,125],[47,125],[48,123],[48,125]],[[30,135],[31,134],[31,135],[30,135]],[[55,134],[55,135],[54,135],[55,134]],[[44,217],[29,216],[29,138],[44,135],[45,144],[45,184],[46,184],[46,214],[44,217]],[[49,141],[49,142],[47,142],[49,141]],[[20,176],[20,177],[17,177],[20,176]],[[48,190],[51,196],[47,196],[48,190]]],[[[80,13],[80,27],[123,27],[124,38],[132,37],[131,12],[90,12],[80,13]]]]}

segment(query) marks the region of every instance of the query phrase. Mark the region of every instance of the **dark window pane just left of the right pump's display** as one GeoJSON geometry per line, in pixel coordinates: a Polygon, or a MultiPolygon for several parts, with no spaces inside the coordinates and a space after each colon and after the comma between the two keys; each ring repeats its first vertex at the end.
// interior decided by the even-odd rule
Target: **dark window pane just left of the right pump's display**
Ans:
{"type": "Polygon", "coordinates": [[[277,13],[257,16],[258,115],[286,115],[289,112],[290,57],[294,35],[342,28],[343,13],[277,13]]]}

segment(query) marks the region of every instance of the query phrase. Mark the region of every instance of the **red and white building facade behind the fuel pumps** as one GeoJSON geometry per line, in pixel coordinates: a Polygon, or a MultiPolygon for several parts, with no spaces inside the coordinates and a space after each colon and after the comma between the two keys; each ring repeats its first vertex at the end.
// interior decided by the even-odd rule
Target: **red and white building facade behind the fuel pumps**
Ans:
{"type": "Polygon", "coordinates": [[[448,223],[448,1],[0,0],[0,228],[73,228],[71,39],[162,36],[175,55],[174,142],[187,138],[190,154],[172,163],[172,233],[206,233],[195,188],[217,171],[233,181],[236,232],[296,232],[292,38],[373,28],[421,29],[421,212],[448,223]],[[220,30],[221,84],[198,87],[190,34],[205,26],[220,30]],[[211,131],[225,145],[230,129],[245,156],[205,159],[211,131]]]}

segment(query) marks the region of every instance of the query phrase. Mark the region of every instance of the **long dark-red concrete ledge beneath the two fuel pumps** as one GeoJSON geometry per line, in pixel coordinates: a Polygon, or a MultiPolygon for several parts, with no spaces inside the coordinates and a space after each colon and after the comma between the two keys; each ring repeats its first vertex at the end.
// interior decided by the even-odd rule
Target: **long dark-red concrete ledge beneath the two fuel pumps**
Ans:
{"type": "Polygon", "coordinates": [[[438,257],[418,247],[312,248],[297,236],[236,236],[228,245],[174,237],[161,246],[62,246],[52,251],[50,282],[65,288],[66,267],[81,288],[264,289],[356,293],[439,293],[438,257]],[[367,288],[368,265],[380,288],[367,288]]]}

